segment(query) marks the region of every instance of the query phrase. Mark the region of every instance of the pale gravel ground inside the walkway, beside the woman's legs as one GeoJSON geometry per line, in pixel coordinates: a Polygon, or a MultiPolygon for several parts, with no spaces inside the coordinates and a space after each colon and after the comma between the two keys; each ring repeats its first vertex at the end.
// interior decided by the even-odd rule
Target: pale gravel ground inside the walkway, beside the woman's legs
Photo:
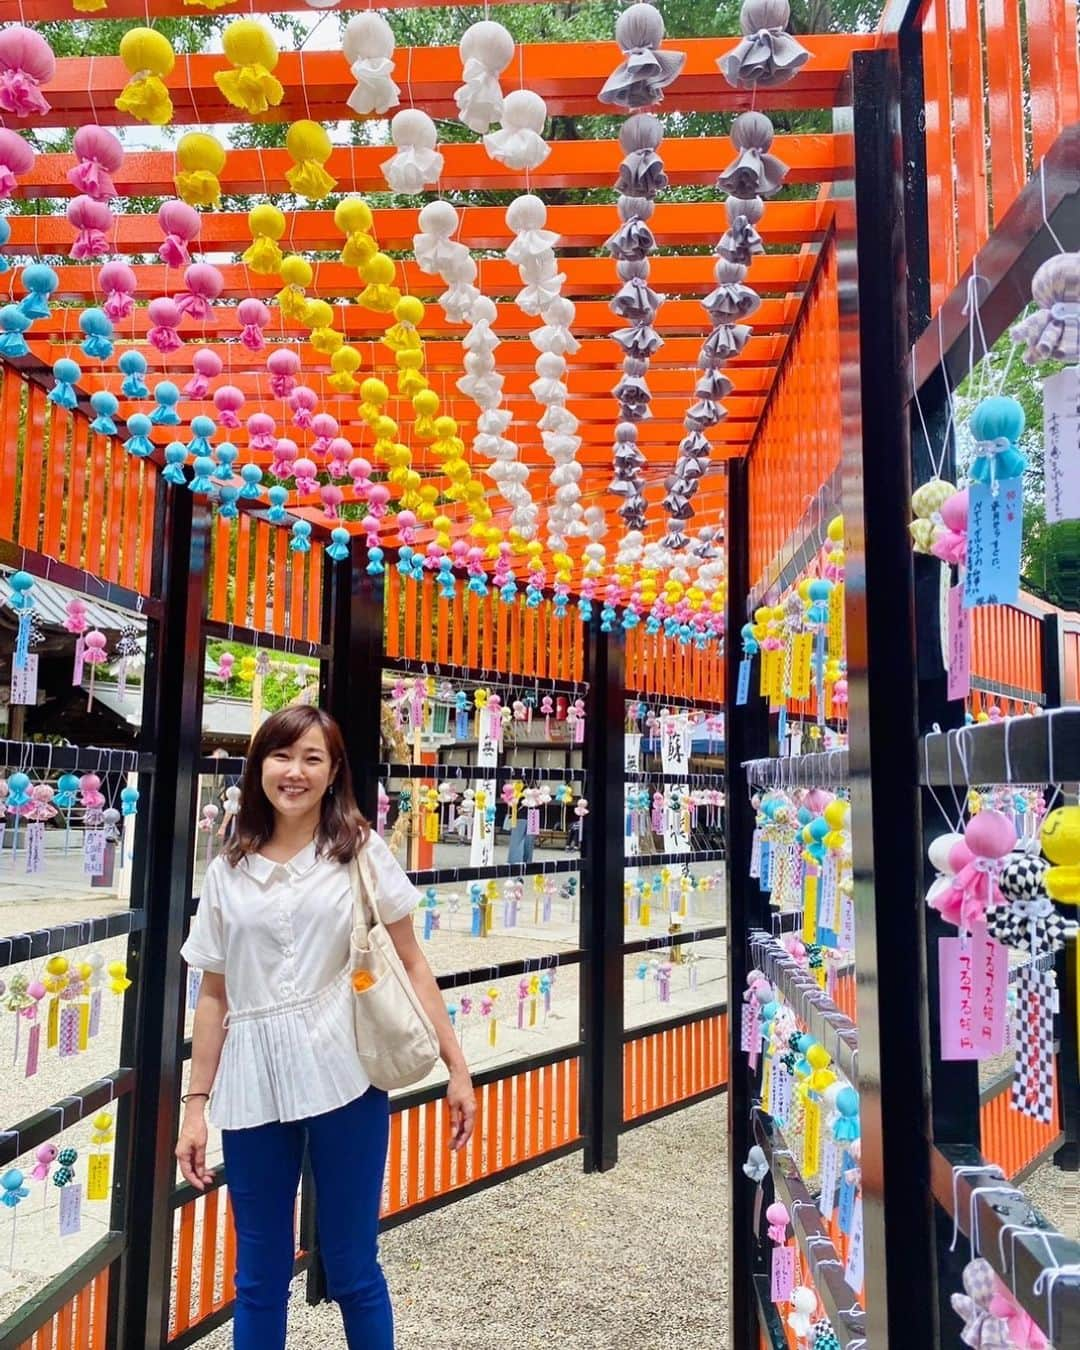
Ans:
{"type": "MultiPolygon", "coordinates": [[[[387,1233],[398,1350],[721,1350],[726,1343],[725,1102],[622,1137],[387,1233]],[[663,1292],[660,1292],[663,1291],[663,1292]]],[[[338,1310],[293,1291],[289,1347],[342,1343],[338,1310]]],[[[232,1345],[227,1327],[200,1342],[232,1345]]]]}

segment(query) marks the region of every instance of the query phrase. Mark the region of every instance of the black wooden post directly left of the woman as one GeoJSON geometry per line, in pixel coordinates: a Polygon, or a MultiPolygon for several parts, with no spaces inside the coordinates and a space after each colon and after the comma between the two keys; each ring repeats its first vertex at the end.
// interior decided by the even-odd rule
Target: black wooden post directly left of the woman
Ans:
{"type": "MultiPolygon", "coordinates": [[[[138,899],[146,929],[132,944],[135,1017],[124,1029],[122,1062],[138,1065],[130,1148],[113,1226],[127,1234],[115,1331],[120,1350],[159,1350],[169,1335],[173,1287],[173,1206],[184,979],[180,948],[194,864],[198,757],[202,747],[202,610],[209,563],[209,514],[182,487],[163,489],[162,617],[147,643],[142,742],[157,756],[147,803],[147,860],[138,899]]],[[[130,1134],[127,1133],[130,1131],[130,1134]]],[[[112,1342],[111,1342],[112,1343],[112,1342]]]]}

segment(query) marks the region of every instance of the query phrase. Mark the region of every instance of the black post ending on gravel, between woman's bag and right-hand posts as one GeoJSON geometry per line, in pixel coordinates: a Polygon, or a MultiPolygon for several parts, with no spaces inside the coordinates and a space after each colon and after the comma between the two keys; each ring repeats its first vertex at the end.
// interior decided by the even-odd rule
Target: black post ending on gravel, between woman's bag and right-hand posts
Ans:
{"type": "Polygon", "coordinates": [[[622,1127],[622,873],[626,725],[621,630],[587,634],[585,770],[589,818],[582,850],[582,1123],[586,1172],[618,1161],[622,1127]]]}

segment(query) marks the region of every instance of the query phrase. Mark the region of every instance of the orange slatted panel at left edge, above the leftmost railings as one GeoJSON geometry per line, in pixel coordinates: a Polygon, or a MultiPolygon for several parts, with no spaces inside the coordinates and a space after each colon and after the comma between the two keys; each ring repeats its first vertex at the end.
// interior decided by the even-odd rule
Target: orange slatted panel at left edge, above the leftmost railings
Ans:
{"type": "Polygon", "coordinates": [[[0,362],[0,539],[150,593],[155,464],[0,362]]]}

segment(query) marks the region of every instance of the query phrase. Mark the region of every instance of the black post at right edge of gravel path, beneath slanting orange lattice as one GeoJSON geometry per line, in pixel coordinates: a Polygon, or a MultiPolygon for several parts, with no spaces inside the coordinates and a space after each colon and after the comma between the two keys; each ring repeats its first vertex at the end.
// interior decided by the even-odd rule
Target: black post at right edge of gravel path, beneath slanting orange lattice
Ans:
{"type": "MultiPolygon", "coordinates": [[[[751,454],[753,448],[751,447],[751,454]]],[[[770,752],[768,703],[751,690],[737,705],[738,666],[742,659],[740,629],[747,622],[745,598],[755,578],[749,560],[749,456],[728,462],[728,614],[725,636],[724,767],[726,786],[726,872],[728,872],[728,1173],[729,1300],[728,1345],[730,1350],[757,1350],[757,1299],[753,1289],[757,1242],[753,1233],[753,1184],[742,1164],[753,1143],[751,1107],[753,1084],[740,1049],[742,994],[749,971],[747,934],[768,932],[768,906],[749,876],[753,809],[749,803],[742,764],[770,752]]]]}

